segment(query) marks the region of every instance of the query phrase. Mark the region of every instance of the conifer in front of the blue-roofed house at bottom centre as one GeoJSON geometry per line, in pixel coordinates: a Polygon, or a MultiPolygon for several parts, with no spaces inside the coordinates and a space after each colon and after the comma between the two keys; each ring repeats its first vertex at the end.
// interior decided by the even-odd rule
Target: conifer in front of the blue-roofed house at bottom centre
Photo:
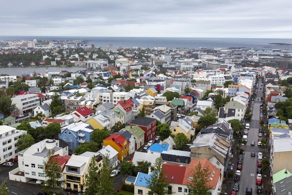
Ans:
{"type": "Polygon", "coordinates": [[[166,181],[167,176],[164,175],[166,169],[163,167],[163,160],[161,156],[159,158],[156,158],[152,169],[153,170],[150,177],[145,178],[146,187],[149,188],[150,191],[156,195],[172,194],[172,192],[168,191],[168,185],[171,182],[166,181]]]}

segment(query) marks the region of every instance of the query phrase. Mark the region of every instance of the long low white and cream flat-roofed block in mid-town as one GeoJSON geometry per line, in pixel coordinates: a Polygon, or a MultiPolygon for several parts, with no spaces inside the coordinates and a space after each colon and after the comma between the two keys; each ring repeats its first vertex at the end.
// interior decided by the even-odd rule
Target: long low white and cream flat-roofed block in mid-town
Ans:
{"type": "Polygon", "coordinates": [[[99,93],[99,103],[109,102],[114,105],[118,101],[124,101],[130,98],[130,92],[112,92],[112,93],[99,93]]]}

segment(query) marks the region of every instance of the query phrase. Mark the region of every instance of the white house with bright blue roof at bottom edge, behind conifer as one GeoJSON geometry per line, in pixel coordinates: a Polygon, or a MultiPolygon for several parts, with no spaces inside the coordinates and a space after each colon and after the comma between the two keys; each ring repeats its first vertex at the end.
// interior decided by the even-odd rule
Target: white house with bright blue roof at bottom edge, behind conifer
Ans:
{"type": "Polygon", "coordinates": [[[148,174],[138,172],[138,175],[136,177],[135,183],[134,183],[134,193],[140,194],[140,195],[146,195],[149,194],[150,189],[147,188],[146,179],[150,179],[150,173],[148,171],[148,174]]]}

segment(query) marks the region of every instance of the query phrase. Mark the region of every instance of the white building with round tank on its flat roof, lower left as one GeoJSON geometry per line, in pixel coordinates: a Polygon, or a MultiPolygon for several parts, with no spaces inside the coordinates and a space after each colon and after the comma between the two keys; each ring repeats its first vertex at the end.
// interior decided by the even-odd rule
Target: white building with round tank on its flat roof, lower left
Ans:
{"type": "Polygon", "coordinates": [[[55,139],[44,139],[18,152],[18,168],[9,172],[9,179],[22,182],[32,179],[46,180],[43,162],[48,160],[48,150],[53,149],[55,155],[63,156],[63,148],[59,146],[59,140],[55,139]],[[18,175],[19,172],[23,173],[18,175]]]}

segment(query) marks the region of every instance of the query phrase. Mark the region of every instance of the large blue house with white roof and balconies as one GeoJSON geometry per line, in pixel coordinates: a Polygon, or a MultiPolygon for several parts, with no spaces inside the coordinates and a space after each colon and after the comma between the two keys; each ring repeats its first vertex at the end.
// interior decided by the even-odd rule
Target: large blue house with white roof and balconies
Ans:
{"type": "Polygon", "coordinates": [[[61,128],[61,133],[59,134],[60,139],[65,141],[68,146],[68,153],[74,154],[75,148],[80,146],[81,143],[85,141],[91,141],[91,125],[85,122],[75,122],[66,127],[61,128]]]}

